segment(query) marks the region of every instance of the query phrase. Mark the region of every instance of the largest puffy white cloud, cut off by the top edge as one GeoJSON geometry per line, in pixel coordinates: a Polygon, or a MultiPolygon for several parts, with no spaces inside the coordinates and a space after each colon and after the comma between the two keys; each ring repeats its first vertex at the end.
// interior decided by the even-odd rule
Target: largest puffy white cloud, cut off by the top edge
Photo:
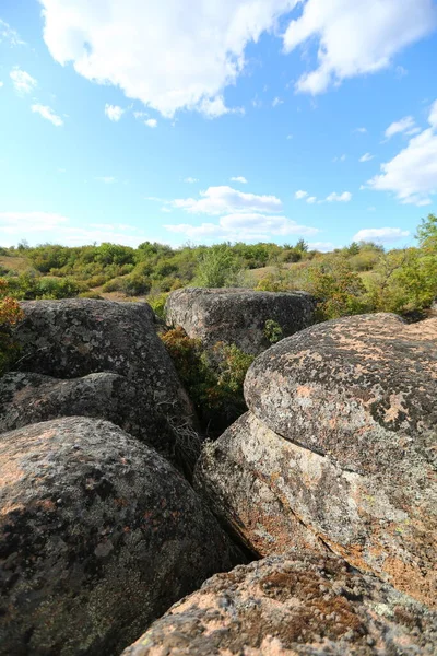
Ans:
{"type": "Polygon", "coordinates": [[[245,49],[297,0],[40,0],[44,38],[60,63],[119,86],[172,117],[227,113],[221,95],[245,68],[245,49]]]}

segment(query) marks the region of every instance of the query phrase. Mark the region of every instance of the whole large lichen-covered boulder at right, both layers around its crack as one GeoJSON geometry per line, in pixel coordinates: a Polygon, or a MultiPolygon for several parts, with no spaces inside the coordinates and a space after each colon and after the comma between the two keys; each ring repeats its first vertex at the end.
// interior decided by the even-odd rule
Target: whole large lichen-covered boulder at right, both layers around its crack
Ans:
{"type": "Polygon", "coordinates": [[[436,398],[437,319],[315,326],[255,361],[196,487],[261,555],[332,550],[435,605],[436,398]]]}

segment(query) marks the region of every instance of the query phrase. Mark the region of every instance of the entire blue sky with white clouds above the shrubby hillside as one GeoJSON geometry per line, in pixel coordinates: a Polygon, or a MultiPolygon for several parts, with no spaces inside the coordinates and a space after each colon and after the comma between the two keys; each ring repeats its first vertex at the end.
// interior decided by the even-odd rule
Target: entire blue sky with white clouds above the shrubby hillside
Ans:
{"type": "Polygon", "coordinates": [[[437,0],[0,0],[0,246],[414,244],[437,0]]]}

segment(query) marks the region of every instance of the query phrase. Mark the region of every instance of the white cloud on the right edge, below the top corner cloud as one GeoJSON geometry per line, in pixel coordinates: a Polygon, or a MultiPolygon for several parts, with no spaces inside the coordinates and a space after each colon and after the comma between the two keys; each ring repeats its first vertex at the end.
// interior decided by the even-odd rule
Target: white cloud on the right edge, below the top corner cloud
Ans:
{"type": "Polygon", "coordinates": [[[406,148],[367,184],[377,191],[391,191],[403,204],[424,207],[437,194],[437,102],[429,113],[430,128],[410,139],[406,148]]]}

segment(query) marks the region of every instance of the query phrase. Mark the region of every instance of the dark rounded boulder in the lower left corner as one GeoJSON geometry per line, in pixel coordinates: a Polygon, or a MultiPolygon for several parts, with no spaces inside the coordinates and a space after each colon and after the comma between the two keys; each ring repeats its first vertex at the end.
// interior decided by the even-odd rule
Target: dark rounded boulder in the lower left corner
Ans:
{"type": "Polygon", "coordinates": [[[114,424],[0,436],[1,656],[113,655],[241,557],[192,488],[114,424]]]}

